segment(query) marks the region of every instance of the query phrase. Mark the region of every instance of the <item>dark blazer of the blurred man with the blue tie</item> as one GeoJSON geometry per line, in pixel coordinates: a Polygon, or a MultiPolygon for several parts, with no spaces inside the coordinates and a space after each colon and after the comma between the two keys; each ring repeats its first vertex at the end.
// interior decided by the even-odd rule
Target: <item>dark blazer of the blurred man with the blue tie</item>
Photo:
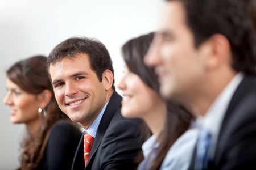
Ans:
{"type": "MultiPolygon", "coordinates": [[[[191,167],[194,163],[195,152],[191,167]]],[[[256,169],[255,76],[246,75],[234,92],[208,169],[256,169]]]]}

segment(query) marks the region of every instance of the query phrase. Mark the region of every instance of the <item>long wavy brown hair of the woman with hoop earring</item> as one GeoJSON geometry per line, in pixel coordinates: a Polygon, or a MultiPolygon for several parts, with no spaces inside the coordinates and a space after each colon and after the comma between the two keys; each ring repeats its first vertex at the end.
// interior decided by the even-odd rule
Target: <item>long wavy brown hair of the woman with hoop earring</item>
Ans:
{"type": "Polygon", "coordinates": [[[7,77],[17,84],[22,90],[30,94],[40,94],[43,90],[52,92],[52,99],[45,108],[46,117],[35,134],[27,134],[20,145],[20,167],[18,169],[36,169],[44,157],[49,133],[52,126],[59,120],[68,120],[68,117],[60,110],[53,95],[51,82],[48,80],[46,70],[47,57],[34,56],[16,62],[7,72],[7,77]]]}

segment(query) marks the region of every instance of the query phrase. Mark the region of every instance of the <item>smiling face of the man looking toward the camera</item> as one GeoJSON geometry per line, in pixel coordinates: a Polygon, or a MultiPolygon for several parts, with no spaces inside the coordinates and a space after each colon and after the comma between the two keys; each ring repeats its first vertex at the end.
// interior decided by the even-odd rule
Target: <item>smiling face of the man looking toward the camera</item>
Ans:
{"type": "Polygon", "coordinates": [[[63,58],[50,65],[52,86],[60,109],[84,128],[92,123],[106,103],[106,90],[90,67],[88,54],[63,58]]]}

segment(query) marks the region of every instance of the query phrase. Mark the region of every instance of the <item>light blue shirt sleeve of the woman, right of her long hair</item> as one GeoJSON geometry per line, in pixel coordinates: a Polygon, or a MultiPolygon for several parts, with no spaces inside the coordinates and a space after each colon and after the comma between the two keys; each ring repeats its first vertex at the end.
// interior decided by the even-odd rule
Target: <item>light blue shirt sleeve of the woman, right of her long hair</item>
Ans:
{"type": "Polygon", "coordinates": [[[188,169],[196,145],[199,129],[195,122],[171,146],[160,167],[161,170],[188,169]]]}

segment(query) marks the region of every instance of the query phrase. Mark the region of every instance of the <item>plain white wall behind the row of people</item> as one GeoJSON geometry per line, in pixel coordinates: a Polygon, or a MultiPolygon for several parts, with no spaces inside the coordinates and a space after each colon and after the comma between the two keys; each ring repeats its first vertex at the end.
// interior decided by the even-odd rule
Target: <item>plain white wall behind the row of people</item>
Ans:
{"type": "MultiPolygon", "coordinates": [[[[35,54],[48,55],[59,42],[76,35],[95,37],[106,45],[118,82],[122,44],[154,31],[162,5],[161,0],[0,0],[0,99],[11,64],[35,54]]],[[[10,124],[9,108],[2,103],[0,108],[0,169],[15,169],[24,126],[10,124]]]]}

